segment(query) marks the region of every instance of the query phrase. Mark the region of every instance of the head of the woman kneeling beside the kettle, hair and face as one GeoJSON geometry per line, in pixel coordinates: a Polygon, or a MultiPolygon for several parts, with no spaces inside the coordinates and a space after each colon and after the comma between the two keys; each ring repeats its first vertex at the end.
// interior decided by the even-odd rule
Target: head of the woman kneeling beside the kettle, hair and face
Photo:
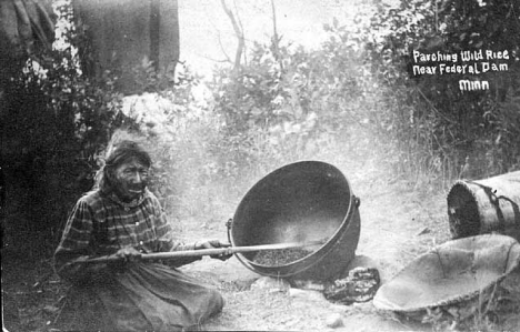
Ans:
{"type": "Polygon", "coordinates": [[[116,192],[121,200],[131,201],[144,191],[150,167],[150,154],[141,145],[121,141],[106,159],[99,189],[103,193],[116,192]]]}

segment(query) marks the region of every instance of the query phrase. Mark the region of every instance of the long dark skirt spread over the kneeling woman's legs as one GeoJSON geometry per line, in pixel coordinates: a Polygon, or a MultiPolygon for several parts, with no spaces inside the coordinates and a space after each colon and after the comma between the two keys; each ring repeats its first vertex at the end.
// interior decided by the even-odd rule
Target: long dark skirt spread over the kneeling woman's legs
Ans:
{"type": "Polygon", "coordinates": [[[129,269],[96,284],[74,285],[58,319],[67,331],[180,331],[219,313],[222,296],[158,263],[129,269]]]}

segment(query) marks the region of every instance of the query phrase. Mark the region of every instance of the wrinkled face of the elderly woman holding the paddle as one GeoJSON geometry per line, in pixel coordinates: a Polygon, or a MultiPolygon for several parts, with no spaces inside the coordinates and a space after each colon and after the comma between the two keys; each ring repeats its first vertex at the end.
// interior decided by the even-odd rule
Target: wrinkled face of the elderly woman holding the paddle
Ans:
{"type": "Polygon", "coordinates": [[[139,198],[148,184],[149,168],[132,158],[120,164],[114,171],[117,193],[123,201],[139,198]]]}

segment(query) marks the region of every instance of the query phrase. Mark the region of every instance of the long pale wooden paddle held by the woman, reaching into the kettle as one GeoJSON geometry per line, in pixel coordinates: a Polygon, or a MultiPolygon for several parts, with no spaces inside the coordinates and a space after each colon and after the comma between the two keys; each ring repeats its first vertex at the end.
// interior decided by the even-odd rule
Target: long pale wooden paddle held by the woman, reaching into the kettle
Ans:
{"type": "MultiPolygon", "coordinates": [[[[201,250],[186,250],[186,251],[171,251],[171,252],[154,252],[144,253],[141,255],[141,261],[150,260],[172,260],[178,258],[189,256],[203,256],[203,255],[218,255],[218,254],[231,254],[241,252],[256,252],[256,251],[269,251],[269,250],[283,250],[283,249],[296,249],[309,245],[323,244],[323,240],[309,241],[309,242],[292,242],[292,243],[276,243],[276,244],[261,244],[250,247],[229,247],[229,248],[216,248],[216,249],[201,249],[201,250]]],[[[74,263],[87,264],[87,263],[108,263],[122,260],[114,255],[104,255],[86,261],[76,261],[74,263]]]]}

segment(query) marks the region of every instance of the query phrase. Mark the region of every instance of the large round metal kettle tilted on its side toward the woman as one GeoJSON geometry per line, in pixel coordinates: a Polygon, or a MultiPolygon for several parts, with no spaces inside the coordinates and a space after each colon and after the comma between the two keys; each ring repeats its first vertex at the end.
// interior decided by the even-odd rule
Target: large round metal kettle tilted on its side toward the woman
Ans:
{"type": "Polygon", "coordinates": [[[282,167],[254,184],[228,229],[233,247],[319,241],[310,253],[281,265],[238,253],[248,269],[274,278],[327,280],[354,258],[360,233],[359,199],[333,165],[301,161],[282,167]]]}

